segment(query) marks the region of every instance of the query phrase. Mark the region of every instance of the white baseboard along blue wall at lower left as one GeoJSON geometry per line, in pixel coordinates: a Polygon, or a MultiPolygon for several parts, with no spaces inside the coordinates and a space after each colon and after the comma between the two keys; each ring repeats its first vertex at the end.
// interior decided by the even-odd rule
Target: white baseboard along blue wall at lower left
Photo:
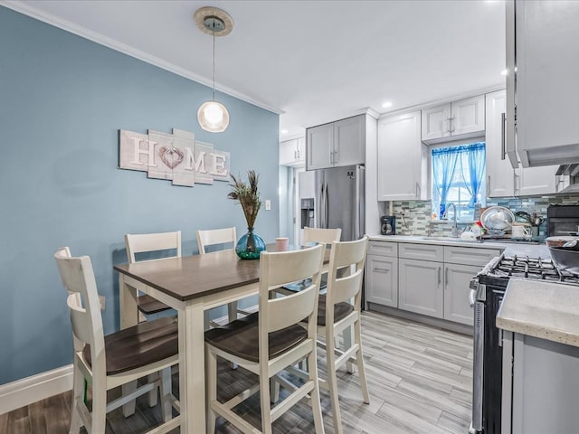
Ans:
{"type": "Polygon", "coordinates": [[[72,389],[72,364],[0,385],[0,414],[72,389]]]}

